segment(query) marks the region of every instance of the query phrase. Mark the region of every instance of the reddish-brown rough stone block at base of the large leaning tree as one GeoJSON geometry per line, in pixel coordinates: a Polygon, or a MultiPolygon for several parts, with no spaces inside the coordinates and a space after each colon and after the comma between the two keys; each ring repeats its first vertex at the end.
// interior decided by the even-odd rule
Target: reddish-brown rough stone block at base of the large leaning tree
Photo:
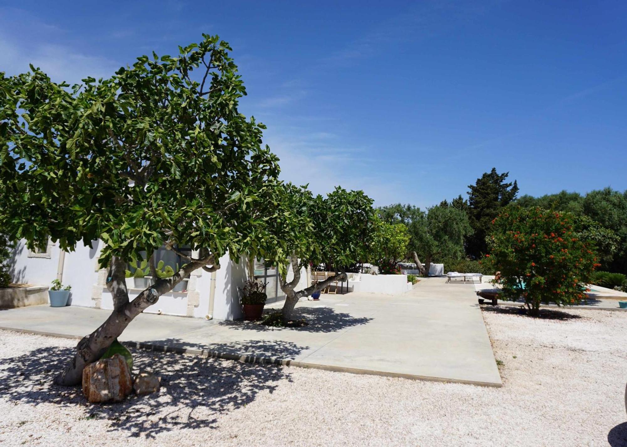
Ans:
{"type": "Polygon", "coordinates": [[[129,366],[120,354],[83,369],[83,394],[91,403],[120,402],[132,391],[129,366]]]}

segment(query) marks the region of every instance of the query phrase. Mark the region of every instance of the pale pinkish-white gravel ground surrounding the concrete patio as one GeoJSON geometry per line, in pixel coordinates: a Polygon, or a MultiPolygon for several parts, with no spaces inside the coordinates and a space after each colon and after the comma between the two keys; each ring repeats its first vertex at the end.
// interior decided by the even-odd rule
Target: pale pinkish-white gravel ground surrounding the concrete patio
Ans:
{"type": "Polygon", "coordinates": [[[627,312],[483,313],[503,388],[135,351],[158,395],[92,406],[50,380],[76,341],[0,331],[0,446],[627,445],[627,312]]]}

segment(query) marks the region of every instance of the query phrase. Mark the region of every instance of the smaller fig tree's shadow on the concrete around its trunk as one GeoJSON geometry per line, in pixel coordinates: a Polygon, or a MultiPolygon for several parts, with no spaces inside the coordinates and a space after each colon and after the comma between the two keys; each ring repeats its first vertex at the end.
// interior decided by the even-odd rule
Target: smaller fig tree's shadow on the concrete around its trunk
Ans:
{"type": "MultiPolygon", "coordinates": [[[[280,311],[280,309],[278,310],[280,311]]],[[[330,307],[297,307],[297,319],[305,319],[307,326],[299,327],[271,327],[255,321],[220,321],[221,326],[240,331],[303,331],[303,332],[336,332],[348,327],[361,326],[372,321],[371,317],[353,317],[344,312],[335,312],[330,307]]],[[[271,311],[277,312],[277,311],[271,311]]]]}

